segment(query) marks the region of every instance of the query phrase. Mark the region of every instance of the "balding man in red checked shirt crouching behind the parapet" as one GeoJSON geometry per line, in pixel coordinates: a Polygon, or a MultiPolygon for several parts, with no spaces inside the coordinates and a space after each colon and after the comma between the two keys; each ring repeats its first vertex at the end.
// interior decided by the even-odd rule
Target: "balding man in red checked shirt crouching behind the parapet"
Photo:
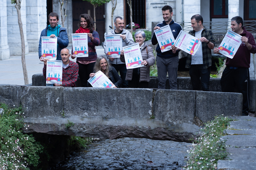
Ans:
{"type": "MultiPolygon", "coordinates": [[[[71,54],[67,48],[63,48],[60,52],[61,59],[62,59],[62,84],[54,84],[54,86],[68,86],[68,87],[76,87],[75,81],[77,81],[78,76],[78,64],[70,61],[69,57],[71,54]]],[[[48,58],[45,58],[44,61],[44,68],[43,68],[43,75],[46,78],[46,64],[48,58]]]]}

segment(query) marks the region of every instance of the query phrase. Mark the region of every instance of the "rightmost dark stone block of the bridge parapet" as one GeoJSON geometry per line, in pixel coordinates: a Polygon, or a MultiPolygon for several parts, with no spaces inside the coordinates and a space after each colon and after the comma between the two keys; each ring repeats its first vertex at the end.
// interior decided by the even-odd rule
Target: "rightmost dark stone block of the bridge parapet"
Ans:
{"type": "Polygon", "coordinates": [[[241,93],[196,92],[195,115],[203,123],[216,115],[242,115],[243,95],[241,93]]]}

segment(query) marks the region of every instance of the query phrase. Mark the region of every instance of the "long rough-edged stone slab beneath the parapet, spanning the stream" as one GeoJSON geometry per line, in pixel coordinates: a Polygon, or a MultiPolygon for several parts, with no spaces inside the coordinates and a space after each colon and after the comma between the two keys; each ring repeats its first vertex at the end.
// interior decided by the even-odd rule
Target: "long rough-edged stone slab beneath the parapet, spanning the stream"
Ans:
{"type": "Polygon", "coordinates": [[[193,124],[173,125],[161,120],[132,117],[65,116],[65,118],[25,118],[24,122],[24,133],[37,132],[101,139],[133,137],[191,142],[189,139],[197,136],[200,129],[193,124]],[[66,128],[65,124],[68,121],[73,122],[74,125],[66,128]]]}

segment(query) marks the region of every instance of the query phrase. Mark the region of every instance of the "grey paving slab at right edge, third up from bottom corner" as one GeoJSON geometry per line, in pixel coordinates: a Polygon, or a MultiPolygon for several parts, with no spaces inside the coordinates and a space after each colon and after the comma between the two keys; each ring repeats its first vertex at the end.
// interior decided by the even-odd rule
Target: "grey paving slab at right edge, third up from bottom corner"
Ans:
{"type": "Polygon", "coordinates": [[[226,140],[225,145],[229,147],[256,148],[256,135],[227,135],[221,137],[221,140],[226,140]]]}

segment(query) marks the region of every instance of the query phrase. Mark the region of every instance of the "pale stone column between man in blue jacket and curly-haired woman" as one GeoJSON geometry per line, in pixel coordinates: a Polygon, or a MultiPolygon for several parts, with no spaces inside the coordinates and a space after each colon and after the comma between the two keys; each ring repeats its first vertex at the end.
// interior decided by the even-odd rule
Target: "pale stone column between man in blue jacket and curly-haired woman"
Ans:
{"type": "MultiPolygon", "coordinates": [[[[66,6],[66,1],[64,1],[64,5],[62,6],[62,8],[65,8],[65,6],[66,6]]],[[[60,24],[62,26],[59,0],[53,0],[53,12],[56,12],[59,15],[58,24],[60,24]]],[[[69,46],[70,46],[70,45],[72,45],[71,34],[73,33],[72,0],[68,0],[66,15],[67,16],[66,16],[66,20],[64,22],[64,26],[67,29],[69,46]]],[[[63,12],[63,16],[64,16],[64,12],[63,12]]],[[[75,32],[75,30],[74,30],[74,32],[75,32]]]]}

